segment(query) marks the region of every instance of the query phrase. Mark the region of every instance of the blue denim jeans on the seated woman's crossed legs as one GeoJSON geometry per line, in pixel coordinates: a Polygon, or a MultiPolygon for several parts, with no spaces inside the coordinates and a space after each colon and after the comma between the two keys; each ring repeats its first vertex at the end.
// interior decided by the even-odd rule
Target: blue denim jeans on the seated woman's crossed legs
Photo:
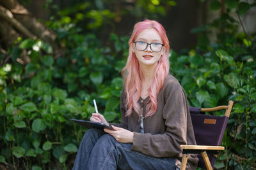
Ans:
{"type": "Polygon", "coordinates": [[[119,143],[98,129],[84,134],[76,155],[76,169],[178,169],[174,158],[150,157],[131,150],[132,143],[119,143]]]}

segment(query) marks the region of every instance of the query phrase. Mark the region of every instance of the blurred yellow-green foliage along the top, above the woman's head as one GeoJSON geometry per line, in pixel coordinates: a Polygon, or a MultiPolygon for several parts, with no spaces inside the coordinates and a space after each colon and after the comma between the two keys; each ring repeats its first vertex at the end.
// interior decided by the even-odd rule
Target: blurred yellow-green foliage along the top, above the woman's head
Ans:
{"type": "MultiPolygon", "coordinates": [[[[57,2],[58,3],[58,2],[57,2]]],[[[68,8],[61,8],[54,1],[47,1],[45,7],[50,8],[51,19],[47,25],[52,29],[61,28],[61,31],[68,29],[71,25],[83,28],[81,32],[93,32],[100,34],[102,28],[111,27],[115,29],[114,23],[120,22],[123,18],[152,18],[158,19],[166,16],[176,1],[172,0],[138,0],[127,1],[67,1],[68,8]],[[58,11],[58,12],[56,12],[58,11]],[[65,27],[63,27],[65,25],[65,27]]],[[[64,33],[64,32],[63,32],[64,33]]],[[[108,34],[108,32],[106,32],[108,34]]]]}

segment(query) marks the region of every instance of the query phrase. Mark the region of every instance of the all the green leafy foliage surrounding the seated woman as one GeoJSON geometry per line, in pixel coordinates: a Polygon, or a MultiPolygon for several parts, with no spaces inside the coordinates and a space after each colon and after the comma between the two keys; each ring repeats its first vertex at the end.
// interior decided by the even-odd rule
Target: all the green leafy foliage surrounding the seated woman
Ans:
{"type": "MultiPolygon", "coordinates": [[[[88,120],[95,112],[92,101],[96,99],[99,112],[109,122],[120,120],[120,71],[128,55],[128,38],[111,33],[108,44],[102,46],[96,33],[83,33],[97,32],[113,19],[113,11],[108,10],[113,1],[93,3],[60,10],[58,20],[47,22],[56,31],[62,50],[57,52],[41,39],[19,39],[8,51],[12,62],[0,68],[1,163],[24,169],[71,169],[86,129],[70,118],[88,120]],[[26,65],[18,62],[24,53],[31,59],[26,65]]],[[[52,1],[45,6],[49,4],[52,1]]],[[[157,18],[164,15],[166,4],[175,6],[175,1],[138,1],[132,15],[157,18]]],[[[255,34],[237,32],[240,23],[229,15],[232,10],[244,15],[251,7],[239,0],[225,4],[227,12],[220,18],[191,31],[198,34],[195,48],[171,51],[170,64],[190,106],[209,108],[235,102],[223,138],[226,150],[216,168],[253,169],[256,40],[255,34]],[[211,31],[218,32],[214,42],[208,39],[211,31]]],[[[211,1],[211,10],[222,5],[211,1]]]]}

